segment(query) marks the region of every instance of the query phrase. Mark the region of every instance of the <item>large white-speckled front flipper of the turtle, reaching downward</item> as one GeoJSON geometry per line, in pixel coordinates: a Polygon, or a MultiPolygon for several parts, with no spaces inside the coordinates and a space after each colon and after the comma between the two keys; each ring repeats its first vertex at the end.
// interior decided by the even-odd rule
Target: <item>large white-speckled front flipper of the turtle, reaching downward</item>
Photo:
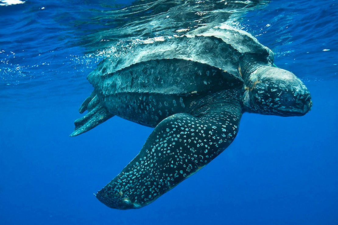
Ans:
{"type": "Polygon", "coordinates": [[[116,209],[143,207],[218,156],[234,140],[242,108],[239,102],[205,102],[192,114],[162,120],[140,153],[96,194],[97,199],[116,209]]]}

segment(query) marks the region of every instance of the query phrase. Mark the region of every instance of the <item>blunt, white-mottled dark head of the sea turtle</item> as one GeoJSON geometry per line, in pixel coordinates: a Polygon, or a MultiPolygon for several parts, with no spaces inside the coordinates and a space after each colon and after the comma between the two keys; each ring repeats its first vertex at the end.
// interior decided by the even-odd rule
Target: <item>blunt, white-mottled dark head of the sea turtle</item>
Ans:
{"type": "Polygon", "coordinates": [[[311,110],[311,95],[293,73],[272,66],[252,72],[244,87],[243,104],[248,112],[302,116],[311,110]]]}

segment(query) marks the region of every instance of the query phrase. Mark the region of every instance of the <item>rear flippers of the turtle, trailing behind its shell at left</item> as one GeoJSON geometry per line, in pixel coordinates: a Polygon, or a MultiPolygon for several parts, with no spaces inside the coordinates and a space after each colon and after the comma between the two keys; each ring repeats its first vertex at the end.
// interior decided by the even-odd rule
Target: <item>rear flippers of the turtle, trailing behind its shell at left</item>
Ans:
{"type": "Polygon", "coordinates": [[[88,110],[88,113],[85,116],[74,121],[75,129],[73,133],[69,135],[70,137],[87,132],[114,116],[100,103],[99,98],[94,91],[86,100],[84,100],[79,108],[80,113],[83,113],[86,110],[88,110]]]}

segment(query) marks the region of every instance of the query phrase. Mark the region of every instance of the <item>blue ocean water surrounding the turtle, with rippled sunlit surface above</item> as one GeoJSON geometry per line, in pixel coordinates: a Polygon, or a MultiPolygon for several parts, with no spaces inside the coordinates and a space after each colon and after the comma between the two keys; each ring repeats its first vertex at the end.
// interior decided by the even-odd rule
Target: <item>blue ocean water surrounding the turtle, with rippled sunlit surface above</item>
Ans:
{"type": "Polygon", "coordinates": [[[335,0],[2,0],[0,14],[0,224],[338,224],[335,0]],[[70,138],[92,91],[86,76],[131,38],[223,22],[272,49],[309,88],[312,110],[245,113],[198,173],[144,208],[106,207],[93,193],[152,129],[113,117],[70,138]]]}

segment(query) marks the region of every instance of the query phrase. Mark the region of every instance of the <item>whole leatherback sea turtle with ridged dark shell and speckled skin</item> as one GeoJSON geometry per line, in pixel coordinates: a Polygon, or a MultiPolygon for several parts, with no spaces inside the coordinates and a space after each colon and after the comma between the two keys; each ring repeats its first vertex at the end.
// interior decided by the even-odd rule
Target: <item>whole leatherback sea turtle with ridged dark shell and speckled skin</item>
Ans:
{"type": "Polygon", "coordinates": [[[301,116],[306,86],[273,53],[230,27],[139,41],[88,75],[93,93],[71,136],[114,115],[154,127],[140,153],[96,197],[117,209],[145,206],[206,166],[234,140],[243,112],[301,116]]]}

